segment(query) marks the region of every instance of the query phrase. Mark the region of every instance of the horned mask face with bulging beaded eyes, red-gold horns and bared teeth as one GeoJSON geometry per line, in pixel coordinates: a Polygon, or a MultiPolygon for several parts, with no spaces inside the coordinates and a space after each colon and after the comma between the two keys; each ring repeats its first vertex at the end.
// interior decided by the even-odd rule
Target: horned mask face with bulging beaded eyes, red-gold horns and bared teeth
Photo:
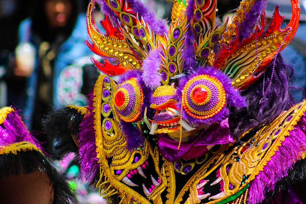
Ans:
{"type": "Polygon", "coordinates": [[[104,58],[103,63],[91,58],[99,70],[119,76],[108,107],[114,107],[122,126],[145,122],[150,134],[179,132],[174,137],[180,141],[189,136],[184,131],[194,133],[220,123],[228,117],[229,107],[245,106],[240,91],[275,64],[295,34],[300,15],[298,2],[291,0],[293,17],[287,27],[281,29],[278,7],[267,25],[265,1],[248,0],[241,2],[227,25],[216,20],[217,1],[174,1],[167,27],[134,1],[98,3],[105,13],[101,24],[106,33],[95,25],[92,0],[87,13],[92,42],[86,44],[104,58]]]}

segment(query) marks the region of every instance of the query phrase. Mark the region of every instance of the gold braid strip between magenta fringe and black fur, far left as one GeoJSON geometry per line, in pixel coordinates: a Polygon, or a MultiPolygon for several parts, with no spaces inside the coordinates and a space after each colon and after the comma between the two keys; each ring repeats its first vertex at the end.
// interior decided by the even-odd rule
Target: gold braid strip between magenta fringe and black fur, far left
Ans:
{"type": "Polygon", "coordinates": [[[1,154],[17,154],[17,152],[21,152],[21,151],[38,151],[41,154],[43,154],[43,152],[36,147],[34,144],[26,142],[26,141],[22,141],[19,143],[13,143],[9,146],[0,146],[0,155],[1,154]]]}

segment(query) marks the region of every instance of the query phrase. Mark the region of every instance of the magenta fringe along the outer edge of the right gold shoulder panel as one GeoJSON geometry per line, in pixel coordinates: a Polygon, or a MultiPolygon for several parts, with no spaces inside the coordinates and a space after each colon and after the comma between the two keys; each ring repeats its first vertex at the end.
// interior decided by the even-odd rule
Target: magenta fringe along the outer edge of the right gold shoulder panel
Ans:
{"type": "Polygon", "coordinates": [[[306,117],[301,117],[290,136],[285,137],[282,146],[272,156],[271,160],[264,166],[263,171],[259,172],[256,178],[250,182],[250,195],[248,204],[256,204],[265,199],[268,191],[273,191],[276,182],[286,177],[287,172],[293,169],[297,160],[300,159],[300,153],[306,151],[306,117]]]}

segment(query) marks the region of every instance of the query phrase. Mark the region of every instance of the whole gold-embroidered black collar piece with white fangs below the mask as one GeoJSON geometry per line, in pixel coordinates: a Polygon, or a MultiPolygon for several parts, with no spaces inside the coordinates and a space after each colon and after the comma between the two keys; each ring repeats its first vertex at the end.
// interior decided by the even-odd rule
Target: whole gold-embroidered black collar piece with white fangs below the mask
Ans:
{"type": "MultiPolygon", "coordinates": [[[[273,121],[245,132],[241,135],[243,145],[215,145],[201,157],[170,162],[162,157],[144,123],[133,123],[146,138],[144,146],[134,151],[125,148],[125,135],[114,112],[116,86],[106,75],[101,75],[95,86],[100,164],[100,179],[95,185],[104,198],[116,195],[120,203],[246,202],[250,183],[290,137],[289,132],[306,110],[306,102],[302,102],[273,121]]],[[[300,158],[304,157],[301,150],[300,158]]]]}

